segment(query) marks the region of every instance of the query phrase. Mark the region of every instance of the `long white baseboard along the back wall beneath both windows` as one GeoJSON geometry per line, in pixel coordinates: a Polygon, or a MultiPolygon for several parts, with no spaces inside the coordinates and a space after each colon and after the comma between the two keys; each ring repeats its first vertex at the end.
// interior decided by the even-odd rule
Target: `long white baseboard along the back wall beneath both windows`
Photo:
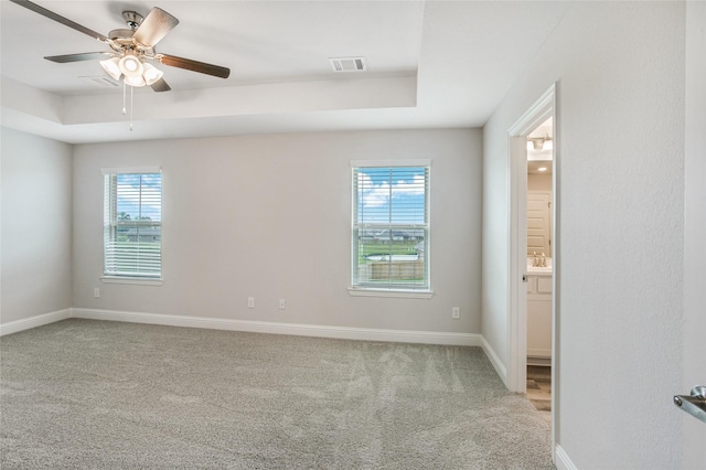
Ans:
{"type": "Polygon", "coordinates": [[[163,313],[145,313],[79,308],[73,309],[72,317],[92,320],[163,324],[169,327],[207,328],[212,330],[246,331],[252,333],[269,334],[292,334],[298,337],[445,344],[459,346],[481,345],[481,335],[471,333],[329,327],[319,324],[279,323],[268,321],[233,320],[204,317],[182,317],[163,313]]]}

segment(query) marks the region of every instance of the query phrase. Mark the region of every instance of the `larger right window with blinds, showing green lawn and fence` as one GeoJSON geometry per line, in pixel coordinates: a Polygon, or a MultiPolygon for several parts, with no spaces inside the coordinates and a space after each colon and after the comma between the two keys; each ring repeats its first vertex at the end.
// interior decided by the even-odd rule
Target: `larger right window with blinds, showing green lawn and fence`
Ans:
{"type": "Polygon", "coordinates": [[[351,164],[351,290],[428,291],[430,161],[351,164]]]}

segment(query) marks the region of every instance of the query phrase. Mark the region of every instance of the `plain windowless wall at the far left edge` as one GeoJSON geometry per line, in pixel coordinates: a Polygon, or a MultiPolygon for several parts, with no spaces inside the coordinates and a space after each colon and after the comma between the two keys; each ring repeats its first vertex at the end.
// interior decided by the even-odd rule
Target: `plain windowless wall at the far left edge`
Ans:
{"type": "Polygon", "coordinates": [[[72,306],[72,147],[1,128],[0,322],[72,306]]]}

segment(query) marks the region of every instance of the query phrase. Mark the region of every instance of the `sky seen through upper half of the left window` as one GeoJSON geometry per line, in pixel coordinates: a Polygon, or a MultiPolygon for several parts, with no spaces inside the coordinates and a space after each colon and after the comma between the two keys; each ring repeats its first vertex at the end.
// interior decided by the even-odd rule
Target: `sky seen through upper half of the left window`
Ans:
{"type": "Polygon", "coordinates": [[[119,218],[162,220],[162,175],[160,173],[118,174],[117,214],[119,218]]]}

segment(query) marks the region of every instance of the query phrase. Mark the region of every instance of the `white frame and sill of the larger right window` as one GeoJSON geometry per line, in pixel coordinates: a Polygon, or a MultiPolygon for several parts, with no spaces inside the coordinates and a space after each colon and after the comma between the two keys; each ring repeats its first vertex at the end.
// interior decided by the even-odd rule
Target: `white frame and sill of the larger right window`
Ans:
{"type": "MultiPolygon", "coordinates": [[[[429,299],[434,296],[431,290],[431,275],[430,275],[430,181],[431,181],[431,160],[430,159],[399,159],[399,160],[351,160],[351,271],[350,271],[350,286],[349,293],[351,296],[361,297],[394,297],[394,298],[418,298],[429,299]],[[366,168],[370,169],[385,169],[391,171],[394,169],[404,168],[421,168],[425,170],[425,206],[424,206],[424,223],[393,223],[393,215],[391,213],[389,220],[386,223],[381,224],[360,224],[359,216],[359,181],[357,173],[366,168]],[[359,273],[359,243],[360,231],[373,228],[383,229],[422,229],[424,231],[424,273],[425,285],[407,287],[405,282],[389,282],[387,285],[377,282],[361,282],[357,279],[359,273]]],[[[388,279],[389,281],[389,279],[388,279]]]]}

